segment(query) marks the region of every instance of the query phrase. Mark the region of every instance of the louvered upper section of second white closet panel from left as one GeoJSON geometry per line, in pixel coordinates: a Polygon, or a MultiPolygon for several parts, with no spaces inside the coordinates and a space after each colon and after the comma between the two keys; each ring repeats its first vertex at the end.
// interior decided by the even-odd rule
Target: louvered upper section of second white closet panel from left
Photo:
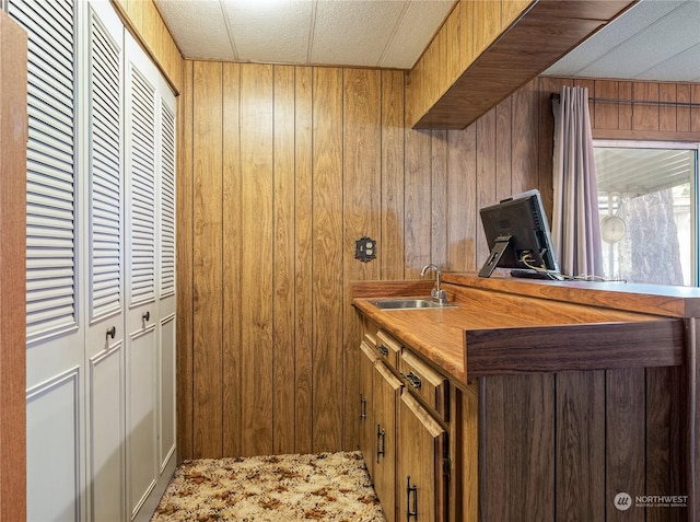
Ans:
{"type": "Polygon", "coordinates": [[[90,15],[90,320],[121,311],[120,46],[90,15]]]}

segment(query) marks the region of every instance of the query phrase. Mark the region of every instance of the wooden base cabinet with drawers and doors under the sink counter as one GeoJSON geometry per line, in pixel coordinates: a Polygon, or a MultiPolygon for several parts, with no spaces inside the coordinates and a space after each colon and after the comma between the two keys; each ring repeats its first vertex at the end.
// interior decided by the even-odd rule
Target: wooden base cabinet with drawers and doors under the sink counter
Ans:
{"type": "Polygon", "coordinates": [[[387,521],[447,520],[456,512],[447,501],[447,380],[365,322],[360,402],[360,450],[387,521]]]}

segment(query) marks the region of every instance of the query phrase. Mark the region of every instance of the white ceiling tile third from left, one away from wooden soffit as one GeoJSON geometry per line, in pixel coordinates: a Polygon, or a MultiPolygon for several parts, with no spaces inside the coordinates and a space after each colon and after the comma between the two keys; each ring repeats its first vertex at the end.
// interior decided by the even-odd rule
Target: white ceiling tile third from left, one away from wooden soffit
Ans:
{"type": "Polygon", "coordinates": [[[402,10],[392,0],[320,0],[311,62],[378,66],[402,10]]]}

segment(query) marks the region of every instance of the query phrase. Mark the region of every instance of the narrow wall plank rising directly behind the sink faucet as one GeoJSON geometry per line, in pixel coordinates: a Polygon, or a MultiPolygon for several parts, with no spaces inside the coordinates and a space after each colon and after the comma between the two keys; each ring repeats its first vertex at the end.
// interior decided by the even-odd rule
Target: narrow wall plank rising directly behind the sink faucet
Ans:
{"type": "Polygon", "coordinates": [[[447,262],[447,131],[433,130],[431,144],[430,259],[447,262]]]}

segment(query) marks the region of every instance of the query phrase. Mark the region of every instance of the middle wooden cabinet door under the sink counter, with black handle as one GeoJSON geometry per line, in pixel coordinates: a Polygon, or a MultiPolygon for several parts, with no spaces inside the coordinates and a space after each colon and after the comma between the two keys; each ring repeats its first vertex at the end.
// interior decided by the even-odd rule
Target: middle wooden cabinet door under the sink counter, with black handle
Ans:
{"type": "Polygon", "coordinates": [[[374,371],[375,462],[374,489],[386,520],[396,512],[396,402],[401,382],[383,362],[374,371]]]}

